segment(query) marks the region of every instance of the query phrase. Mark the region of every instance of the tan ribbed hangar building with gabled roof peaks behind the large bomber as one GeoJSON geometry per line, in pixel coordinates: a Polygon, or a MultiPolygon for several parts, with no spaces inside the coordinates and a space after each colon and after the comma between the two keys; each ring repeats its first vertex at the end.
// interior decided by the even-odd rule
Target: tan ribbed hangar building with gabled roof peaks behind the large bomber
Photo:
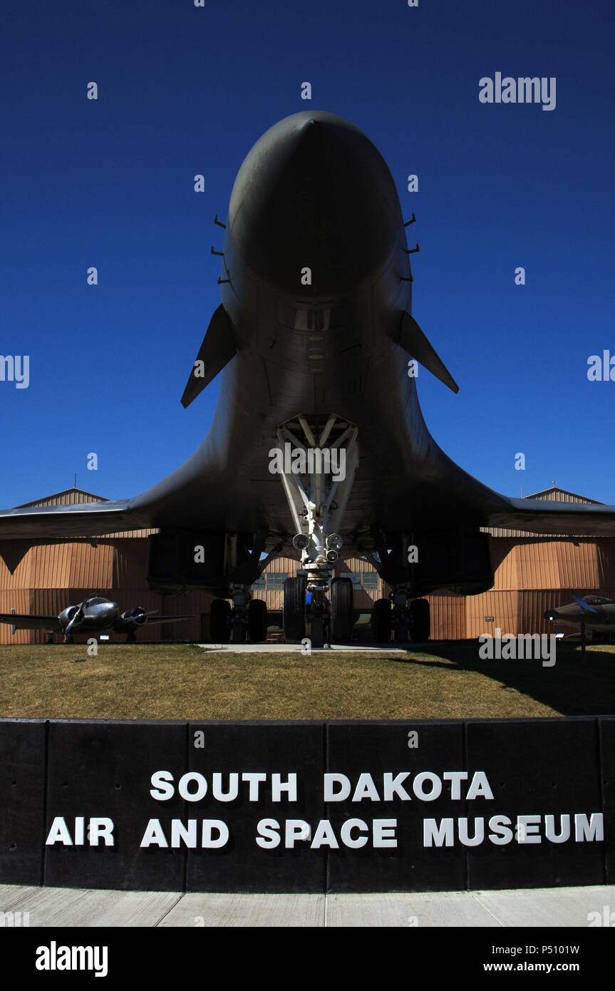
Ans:
{"type": "MultiPolygon", "coordinates": [[[[595,500],[552,488],[532,498],[560,501],[595,500]]],[[[28,505],[71,504],[101,500],[99,495],[68,489],[28,505]]],[[[149,534],[154,530],[132,530],[91,542],[35,544],[26,540],[0,541],[0,612],[33,612],[56,615],[62,608],[93,594],[119,603],[122,610],[133,606],[157,609],[166,614],[193,614],[194,619],[159,627],[159,636],[169,640],[209,639],[212,597],[205,592],[162,597],[146,585],[149,534]]],[[[615,538],[545,537],[520,530],[488,529],[492,536],[495,582],[479,596],[460,596],[442,591],[429,596],[433,639],[473,638],[504,633],[553,632],[543,618],[546,609],[565,604],[570,594],[600,593],[615,598],[615,538]]],[[[288,558],[271,563],[254,587],[258,599],[278,614],[281,624],[284,579],[298,565],[288,558]]],[[[353,579],[355,604],[368,612],[375,599],[388,590],[364,561],[342,562],[339,576],[353,579]]],[[[275,620],[275,615],[271,616],[275,620]]],[[[140,639],[156,639],[158,629],[146,627],[140,639]]],[[[111,634],[111,639],[115,634],[111,634]]],[[[123,636],[117,637],[123,640],[123,636]]],[[[0,643],[45,643],[47,634],[18,630],[0,624],[0,643]]]]}

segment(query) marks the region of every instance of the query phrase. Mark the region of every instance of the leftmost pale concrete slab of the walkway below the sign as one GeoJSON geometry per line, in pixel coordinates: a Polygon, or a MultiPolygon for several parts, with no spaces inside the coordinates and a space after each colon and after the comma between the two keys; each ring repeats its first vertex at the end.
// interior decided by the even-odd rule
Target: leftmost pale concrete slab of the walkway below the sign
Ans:
{"type": "Polygon", "coordinates": [[[0,911],[28,912],[31,928],[156,926],[181,898],[168,891],[93,891],[82,888],[27,888],[5,885],[0,911]]]}

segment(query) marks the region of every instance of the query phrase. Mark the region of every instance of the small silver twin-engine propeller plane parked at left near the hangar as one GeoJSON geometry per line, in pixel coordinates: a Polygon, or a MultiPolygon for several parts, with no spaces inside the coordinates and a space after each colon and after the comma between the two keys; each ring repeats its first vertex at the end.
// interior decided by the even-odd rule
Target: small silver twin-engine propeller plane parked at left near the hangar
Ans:
{"type": "Polygon", "coordinates": [[[72,643],[74,633],[95,634],[113,631],[127,633],[129,642],[137,639],[137,630],[146,623],[181,622],[192,616],[158,616],[141,606],[120,611],[117,603],[102,596],[86,599],[77,606],[66,606],[57,616],[39,616],[15,611],[0,612],[0,622],[10,623],[12,632],[17,629],[47,629],[50,642],[53,633],[61,633],[64,643],[72,643]],[[155,615],[155,618],[152,618],[155,615]]]}

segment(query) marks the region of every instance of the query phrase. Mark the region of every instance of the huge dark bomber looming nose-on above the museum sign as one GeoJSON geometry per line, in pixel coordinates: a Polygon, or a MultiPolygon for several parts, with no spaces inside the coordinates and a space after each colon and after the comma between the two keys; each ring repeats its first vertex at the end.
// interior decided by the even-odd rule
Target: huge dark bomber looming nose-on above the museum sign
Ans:
{"type": "Polygon", "coordinates": [[[0,553],[3,538],[157,528],[150,587],[208,590],[212,638],[240,642],[262,638],[251,588],[288,555],[301,568],[284,585],[285,635],[301,639],[309,622],[318,646],[352,633],[353,586],[333,577],[338,558],[364,558],[390,586],[374,604],[376,639],[392,629],[425,640],[421,597],[493,584],[481,527],[615,532],[615,506],[500,495],[431,436],[409,360],[458,385],[412,315],[414,219],[352,124],[310,110],[271,127],[239,170],[227,222],[215,218],[222,301],[181,399],[188,406],[222,373],[204,442],[142,495],[0,512],[0,553]]]}

